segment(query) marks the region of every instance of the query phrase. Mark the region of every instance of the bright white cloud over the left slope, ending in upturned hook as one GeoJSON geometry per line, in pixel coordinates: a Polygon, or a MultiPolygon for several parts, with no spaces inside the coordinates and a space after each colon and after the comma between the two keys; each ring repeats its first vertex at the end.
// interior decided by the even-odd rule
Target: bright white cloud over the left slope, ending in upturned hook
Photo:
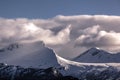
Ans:
{"type": "MultiPolygon", "coordinates": [[[[67,43],[70,38],[70,25],[54,34],[49,28],[44,29],[36,26],[31,21],[2,20],[5,24],[0,26],[0,46],[22,41],[43,41],[45,44],[58,45],[67,43]],[[18,22],[17,22],[18,21],[18,22]]],[[[2,22],[1,21],[1,22],[2,22]]]]}

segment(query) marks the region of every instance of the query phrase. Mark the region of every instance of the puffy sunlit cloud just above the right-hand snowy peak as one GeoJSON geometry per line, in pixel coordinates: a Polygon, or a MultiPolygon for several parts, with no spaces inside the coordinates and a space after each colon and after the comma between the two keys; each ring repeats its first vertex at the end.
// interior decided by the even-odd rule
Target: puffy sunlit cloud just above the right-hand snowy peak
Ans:
{"type": "Polygon", "coordinates": [[[112,49],[120,46],[120,33],[100,30],[98,25],[81,30],[81,33],[76,39],[75,46],[88,48],[107,47],[112,49]]]}

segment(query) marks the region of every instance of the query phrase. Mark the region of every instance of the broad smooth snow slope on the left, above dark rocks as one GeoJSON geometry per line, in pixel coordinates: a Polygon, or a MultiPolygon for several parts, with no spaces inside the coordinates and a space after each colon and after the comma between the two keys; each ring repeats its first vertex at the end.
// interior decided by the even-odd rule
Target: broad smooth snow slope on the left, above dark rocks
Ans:
{"type": "Polygon", "coordinates": [[[14,43],[0,49],[0,63],[40,68],[59,65],[53,50],[45,47],[44,43],[40,41],[14,43]]]}

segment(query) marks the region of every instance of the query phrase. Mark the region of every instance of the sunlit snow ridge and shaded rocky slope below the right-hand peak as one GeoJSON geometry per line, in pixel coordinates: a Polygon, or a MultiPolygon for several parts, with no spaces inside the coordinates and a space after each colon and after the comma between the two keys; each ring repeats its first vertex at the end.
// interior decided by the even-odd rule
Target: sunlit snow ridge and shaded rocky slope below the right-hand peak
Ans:
{"type": "Polygon", "coordinates": [[[57,55],[59,64],[63,67],[63,75],[71,75],[80,80],[119,80],[120,63],[80,63],[66,60],[57,55]]]}

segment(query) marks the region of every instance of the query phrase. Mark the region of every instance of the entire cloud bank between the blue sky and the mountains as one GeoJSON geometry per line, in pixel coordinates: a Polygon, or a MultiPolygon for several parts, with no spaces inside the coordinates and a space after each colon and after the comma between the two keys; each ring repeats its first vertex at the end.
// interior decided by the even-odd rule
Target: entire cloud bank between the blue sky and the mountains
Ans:
{"type": "Polygon", "coordinates": [[[14,42],[39,40],[61,55],[74,56],[91,47],[119,51],[120,16],[58,15],[49,19],[0,18],[0,47],[14,42]]]}

